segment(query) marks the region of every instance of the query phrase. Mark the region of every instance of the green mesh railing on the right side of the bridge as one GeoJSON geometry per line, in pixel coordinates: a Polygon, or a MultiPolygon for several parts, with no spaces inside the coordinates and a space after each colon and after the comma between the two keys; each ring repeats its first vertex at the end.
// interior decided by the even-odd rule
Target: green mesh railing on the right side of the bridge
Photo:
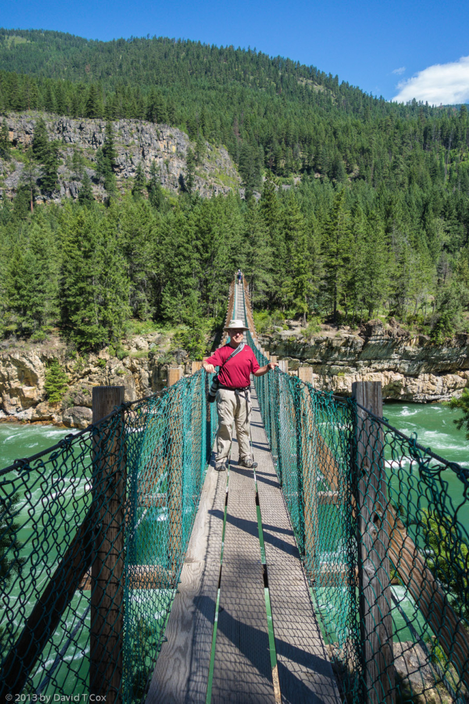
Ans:
{"type": "Polygon", "coordinates": [[[469,470],[356,399],[254,384],[344,701],[467,703],[469,470]]]}

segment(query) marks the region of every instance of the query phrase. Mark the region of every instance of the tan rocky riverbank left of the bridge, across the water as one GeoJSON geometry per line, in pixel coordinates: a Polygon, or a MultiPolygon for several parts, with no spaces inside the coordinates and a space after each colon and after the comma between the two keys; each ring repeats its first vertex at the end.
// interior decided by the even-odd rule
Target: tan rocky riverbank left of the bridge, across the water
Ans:
{"type": "MultiPolygon", "coordinates": [[[[106,348],[86,358],[70,356],[58,338],[46,344],[5,341],[0,348],[0,420],[51,422],[82,429],[92,421],[93,386],[124,386],[125,401],[161,391],[167,381],[170,338],[139,335],[124,341],[117,358],[106,348]],[[49,362],[58,359],[68,375],[61,403],[49,403],[44,382],[49,362]]],[[[176,351],[174,362],[190,373],[187,353],[176,351]]]]}

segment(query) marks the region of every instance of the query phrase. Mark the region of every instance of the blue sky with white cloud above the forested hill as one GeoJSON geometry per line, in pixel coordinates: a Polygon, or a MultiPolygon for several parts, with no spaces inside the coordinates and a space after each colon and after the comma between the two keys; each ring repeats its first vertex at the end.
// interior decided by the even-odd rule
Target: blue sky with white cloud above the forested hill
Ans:
{"type": "Polygon", "coordinates": [[[467,0],[2,0],[0,24],[89,39],[156,34],[251,46],[388,100],[469,101],[467,0]]]}

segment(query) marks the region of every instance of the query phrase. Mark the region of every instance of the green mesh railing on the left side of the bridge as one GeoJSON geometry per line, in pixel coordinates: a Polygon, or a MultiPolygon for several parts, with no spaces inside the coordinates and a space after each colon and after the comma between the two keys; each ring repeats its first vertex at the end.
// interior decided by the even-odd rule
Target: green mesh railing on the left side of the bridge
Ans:
{"type": "Polygon", "coordinates": [[[213,444],[210,382],[182,378],[0,471],[0,700],[142,700],[213,444]]]}

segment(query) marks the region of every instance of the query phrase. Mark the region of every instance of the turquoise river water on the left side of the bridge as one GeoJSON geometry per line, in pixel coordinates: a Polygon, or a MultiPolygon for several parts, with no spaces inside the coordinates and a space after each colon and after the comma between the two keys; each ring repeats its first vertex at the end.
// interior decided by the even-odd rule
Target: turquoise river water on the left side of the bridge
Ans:
{"type": "MultiPolygon", "coordinates": [[[[8,467],[18,458],[37,455],[56,445],[69,433],[70,430],[54,426],[0,424],[0,467],[8,467]]],[[[89,440],[85,440],[75,444],[75,458],[70,453],[59,453],[57,462],[47,461],[40,471],[18,474],[12,470],[0,480],[6,496],[18,491],[18,515],[15,521],[18,524],[20,556],[25,558],[21,576],[15,575],[6,590],[8,608],[15,615],[10,627],[15,634],[13,640],[18,637],[23,622],[30,615],[37,597],[54,572],[58,550],[63,554],[70,536],[75,533],[85,515],[86,506],[89,505],[89,449],[89,440]],[[82,461],[76,462],[78,457],[82,461]]],[[[49,455],[45,455],[44,460],[48,459],[49,455]]],[[[149,509],[142,516],[137,544],[144,554],[137,555],[137,564],[140,558],[144,564],[158,564],[158,560],[163,562],[158,553],[154,553],[150,561],[144,559],[151,543],[156,543],[160,552],[167,545],[167,541],[160,535],[165,532],[162,511],[149,509]],[[142,548],[143,543],[148,543],[146,551],[142,548]]],[[[146,682],[146,674],[151,666],[150,654],[154,652],[154,642],[159,639],[172,598],[173,591],[166,589],[132,590],[127,593],[126,627],[129,635],[125,667],[126,672],[132,670],[130,686],[138,689],[141,680],[146,682]],[[137,668],[140,663],[147,661],[143,673],[134,672],[134,660],[137,668]]],[[[51,696],[56,693],[77,695],[87,691],[91,617],[89,602],[90,592],[87,589],[77,589],[32,673],[30,693],[51,696]]],[[[8,639],[11,637],[8,636],[8,639]]],[[[131,694],[128,694],[127,700],[132,700],[131,694]]]]}

